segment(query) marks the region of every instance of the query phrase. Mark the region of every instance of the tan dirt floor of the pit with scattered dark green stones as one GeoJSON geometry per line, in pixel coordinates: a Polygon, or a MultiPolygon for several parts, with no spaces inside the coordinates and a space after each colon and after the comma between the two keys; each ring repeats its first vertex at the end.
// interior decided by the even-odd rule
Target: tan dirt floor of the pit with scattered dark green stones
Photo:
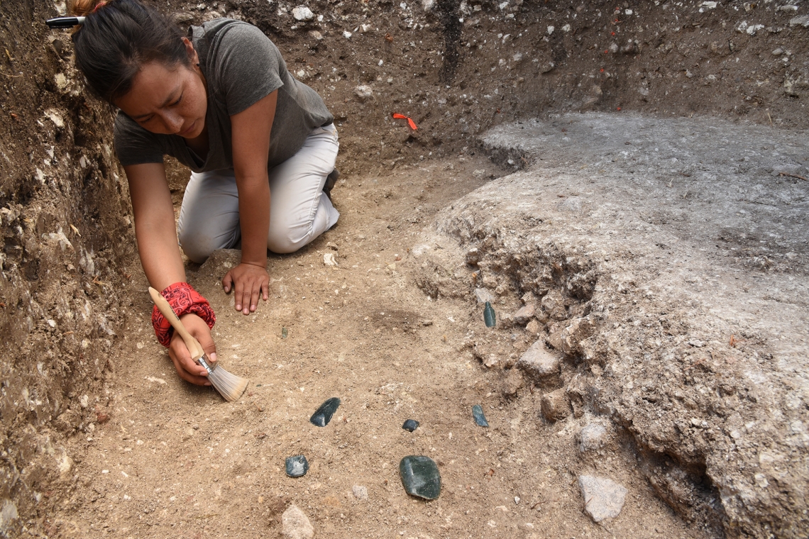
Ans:
{"type": "Polygon", "coordinates": [[[654,495],[632,448],[579,457],[580,421],[544,422],[530,384],[523,398],[504,396],[500,373],[463,347],[469,324],[485,330],[481,313],[431,301],[408,278],[422,225],[497,173],[485,159],[460,158],[349,175],[334,191],[339,225],[299,253],[273,256],[273,294],[248,317],[220,284],[238,251],[190,273],[218,313],[222,365],[250,379],[238,402],[176,377],[152,339],[138,272],[116,381],[99,402],[110,419],[68,446],[80,460],[72,494],[45,533],[280,537],[280,513],[295,503],[318,537],[703,537],[654,495]],[[339,267],[324,266],[329,252],[339,267]],[[309,423],[335,396],[332,423],[309,423]],[[489,429],[472,422],[473,404],[485,407],[489,429]],[[421,426],[406,432],[405,419],[421,426]],[[284,459],[297,454],[311,469],[286,477],[284,459]],[[405,494],[398,465],[409,454],[438,461],[434,502],[405,494]],[[582,472],[629,489],[620,519],[599,526],[582,513],[582,472]],[[354,498],[355,485],[367,500],[354,498]]]}

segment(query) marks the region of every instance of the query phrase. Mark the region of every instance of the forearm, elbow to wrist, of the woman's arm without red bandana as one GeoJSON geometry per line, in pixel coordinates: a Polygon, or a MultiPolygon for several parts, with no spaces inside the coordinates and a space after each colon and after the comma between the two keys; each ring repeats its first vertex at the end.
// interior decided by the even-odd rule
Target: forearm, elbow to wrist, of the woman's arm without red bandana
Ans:
{"type": "Polygon", "coordinates": [[[269,179],[266,173],[236,178],[239,186],[239,222],[242,229],[242,263],[267,265],[269,234],[269,179]]]}

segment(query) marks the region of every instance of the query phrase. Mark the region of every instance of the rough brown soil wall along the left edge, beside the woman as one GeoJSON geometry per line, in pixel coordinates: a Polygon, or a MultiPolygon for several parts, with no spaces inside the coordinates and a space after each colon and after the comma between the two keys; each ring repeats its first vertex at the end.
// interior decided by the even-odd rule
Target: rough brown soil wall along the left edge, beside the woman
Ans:
{"type": "Polygon", "coordinates": [[[106,405],[133,259],[111,111],[87,98],[68,36],[44,25],[53,15],[49,2],[0,6],[0,533],[70,484],[60,440],[92,436],[106,405]]]}

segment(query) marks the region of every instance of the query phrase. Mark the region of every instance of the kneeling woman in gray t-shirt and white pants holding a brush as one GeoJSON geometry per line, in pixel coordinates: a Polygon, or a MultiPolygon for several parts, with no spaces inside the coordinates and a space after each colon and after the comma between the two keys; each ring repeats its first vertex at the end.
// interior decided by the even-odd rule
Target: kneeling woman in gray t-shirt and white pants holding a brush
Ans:
{"type": "MultiPolygon", "coordinates": [[[[215,360],[214,312],[185,282],[176,233],[200,263],[241,238],[241,263],[222,285],[233,289],[236,310],[256,310],[268,297],[267,250],[297,251],[339,217],[328,197],[338,148],[332,115],[248,23],[216,19],[183,36],[138,0],[77,0],[73,11],[85,16],[73,35],[76,64],[120,109],[115,149],[146,277],[215,360]],[[177,229],[164,155],[193,171],[177,229]]],[[[180,377],[210,385],[156,309],[152,322],[180,377]]]]}

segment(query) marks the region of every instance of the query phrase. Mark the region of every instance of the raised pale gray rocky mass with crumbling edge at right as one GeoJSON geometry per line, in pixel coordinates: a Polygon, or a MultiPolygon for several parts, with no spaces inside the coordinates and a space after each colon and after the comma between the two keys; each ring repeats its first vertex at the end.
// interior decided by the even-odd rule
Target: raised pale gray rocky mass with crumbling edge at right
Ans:
{"type": "Polygon", "coordinates": [[[417,284],[468,300],[464,347],[522,368],[547,395],[538,420],[587,412],[628,434],[687,520],[801,537],[806,140],[596,113],[503,125],[481,145],[535,165],[439,214],[413,250],[417,284]],[[476,289],[492,297],[494,330],[476,289]]]}

